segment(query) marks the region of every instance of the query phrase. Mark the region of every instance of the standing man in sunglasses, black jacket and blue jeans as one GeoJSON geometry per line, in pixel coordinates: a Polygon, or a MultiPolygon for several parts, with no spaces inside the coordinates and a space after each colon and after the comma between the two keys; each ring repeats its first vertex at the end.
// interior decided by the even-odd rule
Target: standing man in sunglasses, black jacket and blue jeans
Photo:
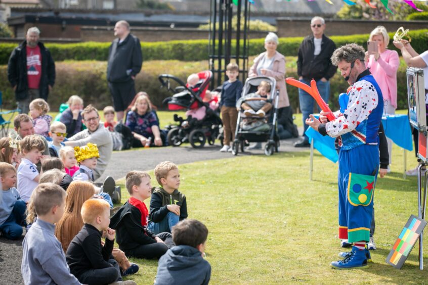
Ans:
{"type": "MultiPolygon", "coordinates": [[[[297,75],[301,82],[308,85],[312,79],[315,79],[322,99],[328,103],[330,97],[330,82],[328,80],[336,73],[337,69],[330,60],[336,45],[324,35],[325,22],[323,18],[312,18],[311,29],[313,35],[307,36],[298,49],[297,75]]],[[[303,140],[296,143],[294,147],[309,147],[309,138],[305,135],[308,125],[305,124],[305,121],[314,111],[314,99],[303,89],[298,89],[298,100],[303,114],[304,131],[303,140]]]]}

